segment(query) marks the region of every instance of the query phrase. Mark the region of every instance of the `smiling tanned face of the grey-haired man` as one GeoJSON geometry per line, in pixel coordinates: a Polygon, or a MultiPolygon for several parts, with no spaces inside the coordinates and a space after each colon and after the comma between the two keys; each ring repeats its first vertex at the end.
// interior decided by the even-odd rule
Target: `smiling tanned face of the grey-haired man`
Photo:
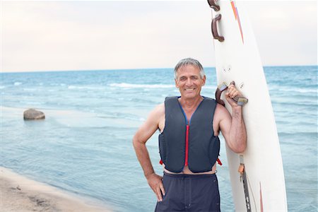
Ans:
{"type": "Polygon", "coordinates": [[[200,69],[196,66],[182,66],[177,70],[175,86],[183,98],[192,99],[200,95],[201,87],[206,83],[206,76],[201,78],[200,69]]]}

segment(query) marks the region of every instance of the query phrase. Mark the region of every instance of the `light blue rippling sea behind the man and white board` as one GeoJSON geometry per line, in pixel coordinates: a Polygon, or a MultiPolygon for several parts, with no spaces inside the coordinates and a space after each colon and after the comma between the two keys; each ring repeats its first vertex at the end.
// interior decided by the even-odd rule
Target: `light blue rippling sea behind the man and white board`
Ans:
{"type": "MultiPolygon", "coordinates": [[[[266,66],[285,172],[289,211],[317,211],[317,66],[266,66]]],[[[131,140],[155,105],[178,95],[173,69],[1,73],[1,166],[114,211],[156,204],[131,140]],[[45,112],[25,122],[23,111],[45,112]]],[[[202,95],[213,97],[206,68],[202,95]]],[[[158,132],[147,142],[155,172],[158,132]]],[[[224,139],[218,180],[221,210],[234,211],[224,139]]]]}

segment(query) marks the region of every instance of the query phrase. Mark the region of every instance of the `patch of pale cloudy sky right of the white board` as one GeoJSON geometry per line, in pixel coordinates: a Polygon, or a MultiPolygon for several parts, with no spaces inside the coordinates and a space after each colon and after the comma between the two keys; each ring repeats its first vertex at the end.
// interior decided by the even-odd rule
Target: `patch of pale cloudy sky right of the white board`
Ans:
{"type": "Polygon", "coordinates": [[[247,8],[264,64],[317,64],[317,1],[250,1],[247,8]]]}

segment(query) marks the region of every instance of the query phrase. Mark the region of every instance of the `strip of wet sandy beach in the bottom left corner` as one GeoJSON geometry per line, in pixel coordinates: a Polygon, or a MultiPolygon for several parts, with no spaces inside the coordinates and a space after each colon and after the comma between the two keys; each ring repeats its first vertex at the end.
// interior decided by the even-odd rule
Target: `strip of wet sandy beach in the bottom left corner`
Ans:
{"type": "Polygon", "coordinates": [[[2,212],[112,211],[88,199],[18,175],[4,167],[0,167],[0,208],[2,212]]]}

